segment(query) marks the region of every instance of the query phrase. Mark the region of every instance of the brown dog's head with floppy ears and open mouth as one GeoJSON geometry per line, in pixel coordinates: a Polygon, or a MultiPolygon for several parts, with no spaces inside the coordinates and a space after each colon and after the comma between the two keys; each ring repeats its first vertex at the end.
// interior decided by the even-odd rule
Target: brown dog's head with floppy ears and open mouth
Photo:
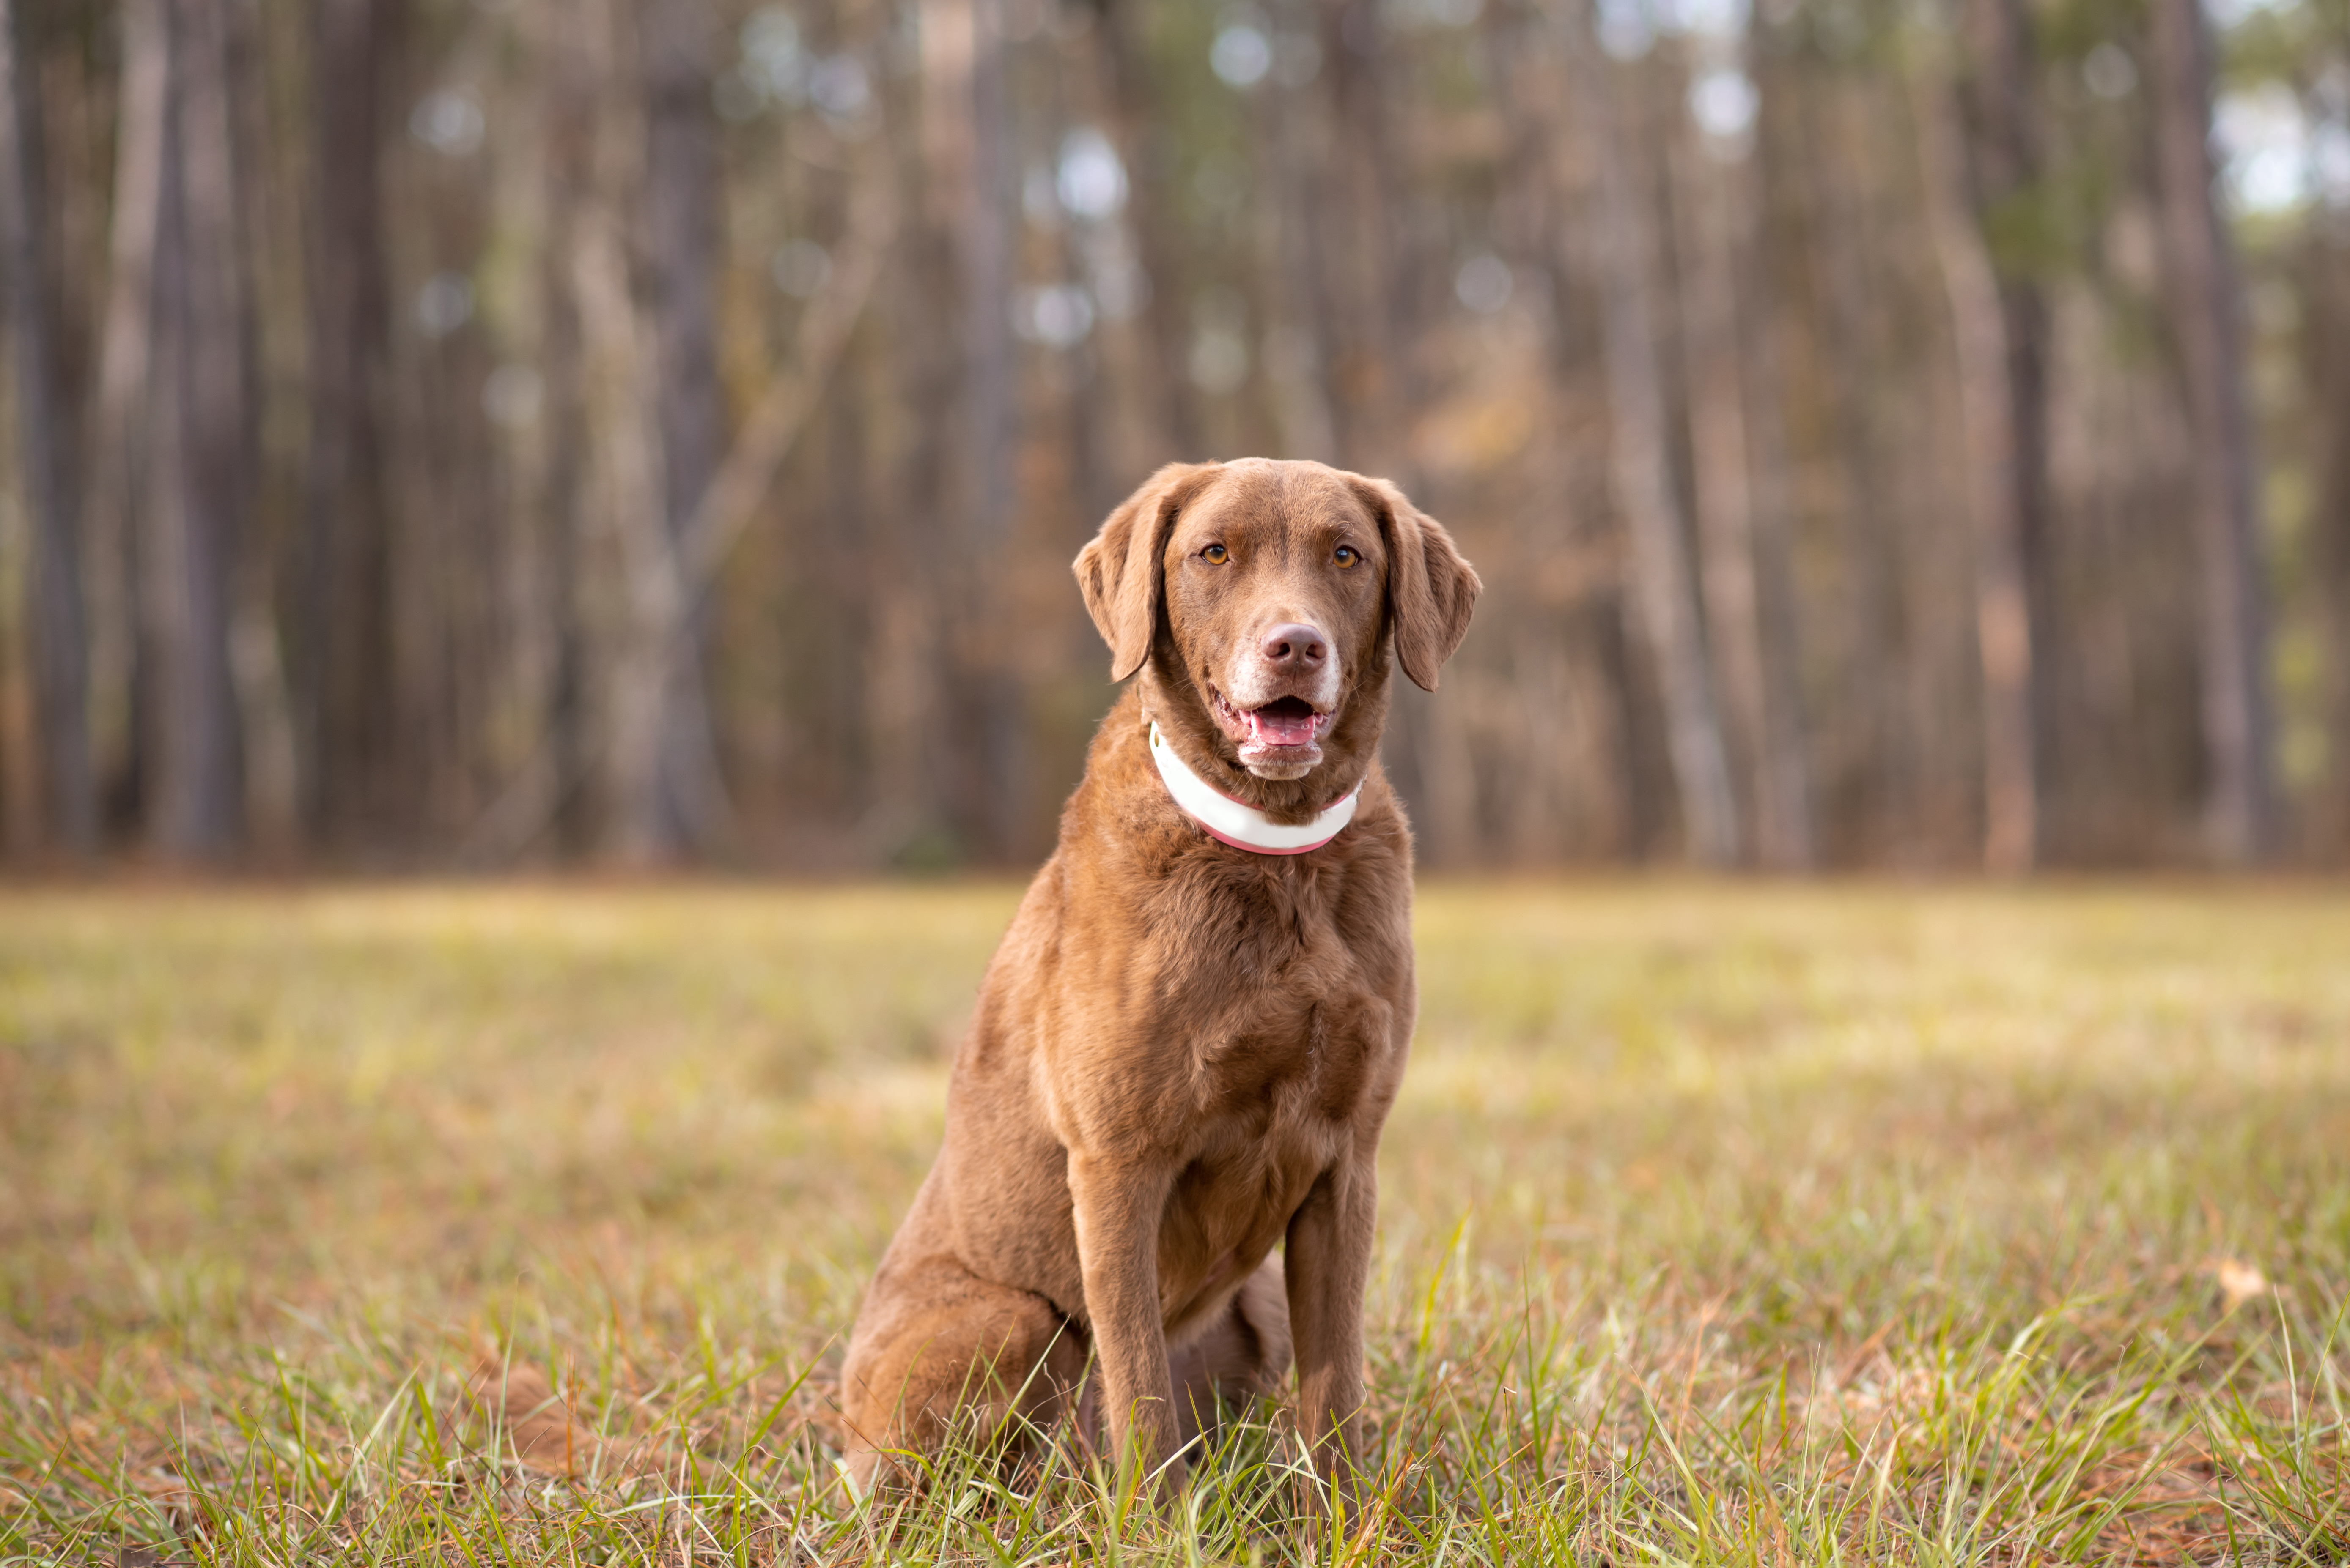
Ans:
{"type": "Polygon", "coordinates": [[[1109,676],[1149,664],[1175,709],[1159,718],[1264,782],[1307,779],[1325,746],[1368,765],[1389,648],[1436,690],[1480,587],[1384,479],[1264,458],[1159,469],[1076,556],[1076,582],[1109,676]]]}

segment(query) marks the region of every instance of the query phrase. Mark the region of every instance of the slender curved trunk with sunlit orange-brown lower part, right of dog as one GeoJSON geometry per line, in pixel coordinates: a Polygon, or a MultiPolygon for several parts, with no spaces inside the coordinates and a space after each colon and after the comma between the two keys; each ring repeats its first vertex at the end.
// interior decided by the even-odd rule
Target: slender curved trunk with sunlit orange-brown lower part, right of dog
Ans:
{"type": "Polygon", "coordinates": [[[1983,866],[2030,871],[2040,852],[2033,728],[2033,622],[2023,587],[2026,491],[2016,434],[2016,354],[1990,254],[1967,204],[1948,92],[1911,80],[1925,157],[1927,221],[1950,300],[1958,408],[1974,519],[1974,638],[1983,669],[1983,866]]]}

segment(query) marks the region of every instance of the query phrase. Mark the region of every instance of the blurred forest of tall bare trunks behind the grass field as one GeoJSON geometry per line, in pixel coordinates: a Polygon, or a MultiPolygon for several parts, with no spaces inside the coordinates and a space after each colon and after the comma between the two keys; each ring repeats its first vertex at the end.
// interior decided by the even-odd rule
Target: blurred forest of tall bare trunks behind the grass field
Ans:
{"type": "Polygon", "coordinates": [[[2345,0],[5,0],[14,864],[1018,864],[1173,458],[1443,866],[2341,864],[2345,0]]]}

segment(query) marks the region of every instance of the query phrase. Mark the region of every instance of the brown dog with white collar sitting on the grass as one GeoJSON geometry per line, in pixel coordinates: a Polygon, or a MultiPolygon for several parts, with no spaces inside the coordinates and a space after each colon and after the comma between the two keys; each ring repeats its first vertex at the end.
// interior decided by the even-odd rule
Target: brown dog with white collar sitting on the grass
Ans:
{"type": "Polygon", "coordinates": [[[980,988],[947,1141],[851,1336],[851,1472],[1065,1413],[1180,1476],[1217,1397],[1300,1366],[1347,1481],[1375,1155],[1412,1038],[1412,840],[1379,770],[1478,577],[1396,486],[1159,469],[1076,559],[1102,721],[980,988]],[[1285,1242],[1274,1258],[1274,1244],[1285,1242]],[[1081,1408],[1069,1399],[1095,1361],[1081,1408]]]}

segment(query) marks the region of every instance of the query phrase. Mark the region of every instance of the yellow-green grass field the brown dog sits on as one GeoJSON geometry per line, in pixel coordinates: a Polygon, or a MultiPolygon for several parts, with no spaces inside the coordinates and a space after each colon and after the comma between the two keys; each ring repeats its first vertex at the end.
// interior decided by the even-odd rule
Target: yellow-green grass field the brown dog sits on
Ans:
{"type": "Polygon", "coordinates": [[[1377,1502],[858,1500],[1013,887],[0,894],[0,1561],[2350,1559],[2350,892],[1431,885],[1377,1502]],[[479,1368],[613,1439],[515,1458],[479,1368]]]}

